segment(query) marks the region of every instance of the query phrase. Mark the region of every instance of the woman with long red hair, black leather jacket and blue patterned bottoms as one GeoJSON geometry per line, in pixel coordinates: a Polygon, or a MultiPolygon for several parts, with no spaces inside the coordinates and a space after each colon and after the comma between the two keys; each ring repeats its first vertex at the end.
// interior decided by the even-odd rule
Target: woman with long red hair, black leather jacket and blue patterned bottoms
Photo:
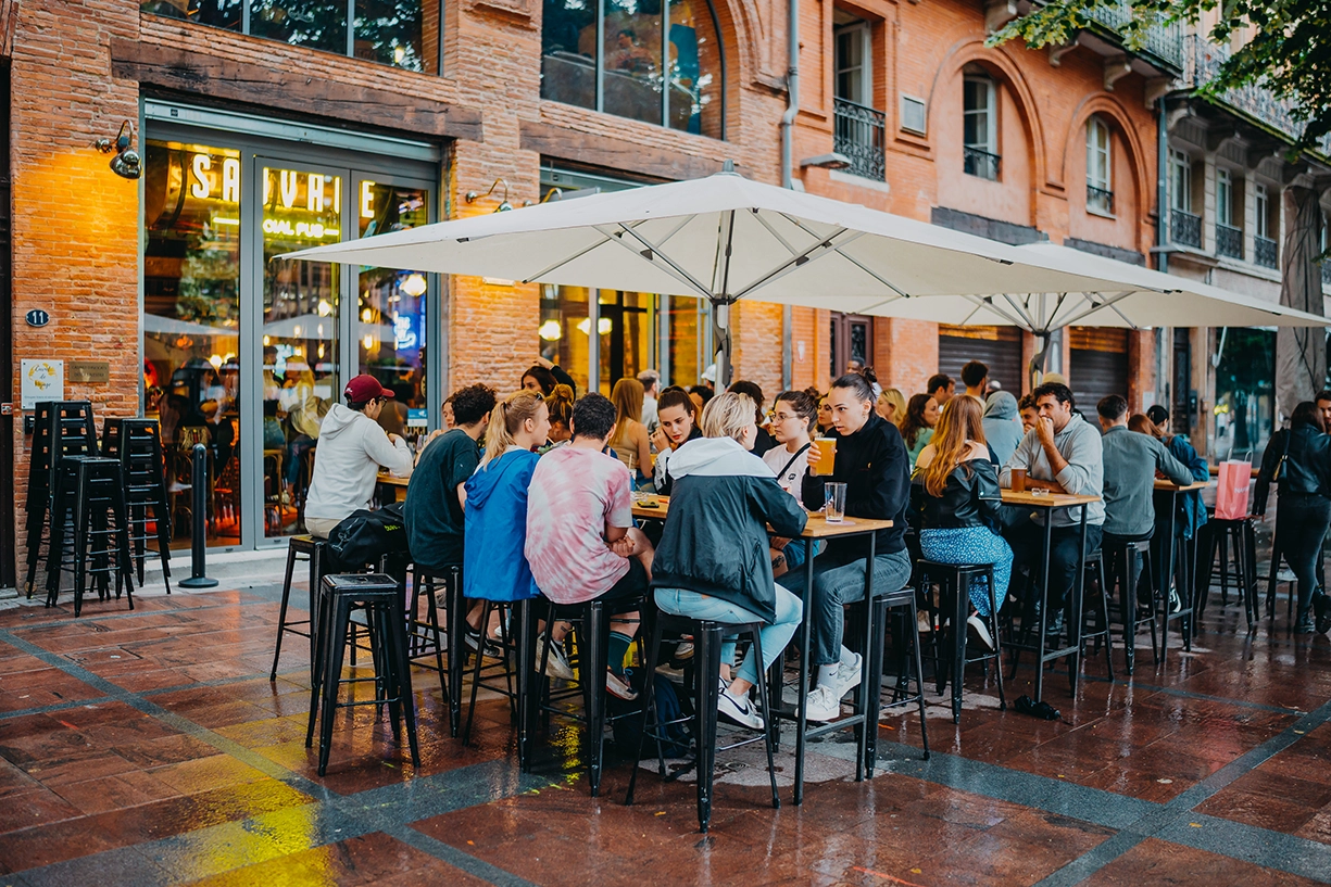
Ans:
{"type": "MultiPolygon", "coordinates": [[[[994,600],[1002,606],[1012,577],[1012,548],[994,532],[1002,496],[989,461],[978,400],[954,398],[948,403],[933,439],[916,460],[914,481],[924,487],[924,556],[942,564],[993,564],[994,600]]],[[[973,582],[969,592],[976,612],[989,616],[989,589],[973,582]]],[[[993,646],[982,618],[972,616],[968,625],[993,646]]]]}

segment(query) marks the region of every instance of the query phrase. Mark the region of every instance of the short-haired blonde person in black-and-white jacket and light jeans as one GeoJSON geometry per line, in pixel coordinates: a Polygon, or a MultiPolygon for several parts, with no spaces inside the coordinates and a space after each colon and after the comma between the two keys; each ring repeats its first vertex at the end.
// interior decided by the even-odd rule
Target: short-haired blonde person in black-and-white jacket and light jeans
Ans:
{"type": "MultiPolygon", "coordinates": [[[[669,459],[669,513],[652,560],[656,606],[717,622],[765,622],[759,636],[767,670],[780,660],[801,614],[800,598],[772,580],[767,527],[780,536],[799,536],[808,516],[772,469],[748,452],[757,434],[748,396],[713,398],[703,411],[703,434],[669,459]]],[[[733,645],[727,649],[733,658],[733,645]]],[[[717,710],[760,730],[763,717],[748,698],[756,668],[749,649],[719,694],[717,710]]]]}

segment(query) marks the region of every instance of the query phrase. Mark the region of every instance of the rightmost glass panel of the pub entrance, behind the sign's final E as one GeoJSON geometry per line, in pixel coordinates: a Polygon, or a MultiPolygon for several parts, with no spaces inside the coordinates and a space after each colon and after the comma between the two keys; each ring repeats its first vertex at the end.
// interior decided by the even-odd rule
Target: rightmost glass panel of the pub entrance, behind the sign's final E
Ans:
{"type": "MultiPolygon", "coordinates": [[[[426,225],[429,194],[362,180],[358,185],[359,235],[426,225]]],[[[419,271],[367,267],[361,270],[357,340],[359,371],[374,375],[395,395],[379,424],[409,443],[426,430],[426,303],[429,278],[419,271]]]]}

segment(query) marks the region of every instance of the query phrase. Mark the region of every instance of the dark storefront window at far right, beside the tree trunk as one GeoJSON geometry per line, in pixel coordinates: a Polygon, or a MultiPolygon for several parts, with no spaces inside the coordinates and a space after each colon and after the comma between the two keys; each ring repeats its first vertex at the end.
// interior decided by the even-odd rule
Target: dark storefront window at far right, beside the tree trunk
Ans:
{"type": "Polygon", "coordinates": [[[1215,368],[1215,452],[1221,459],[1260,461],[1275,422],[1275,334],[1226,332],[1215,368]]]}

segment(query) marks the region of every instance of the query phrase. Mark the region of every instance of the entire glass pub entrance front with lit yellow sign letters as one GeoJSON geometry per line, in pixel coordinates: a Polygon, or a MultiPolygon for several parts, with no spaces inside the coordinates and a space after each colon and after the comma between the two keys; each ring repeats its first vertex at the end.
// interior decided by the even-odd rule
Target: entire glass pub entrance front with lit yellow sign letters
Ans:
{"type": "Polygon", "coordinates": [[[209,447],[209,544],[277,543],[305,532],[319,428],[346,380],[370,372],[393,390],[381,423],[414,442],[441,422],[443,360],[427,348],[437,275],[278,257],[435,221],[438,165],[162,130],[144,145],[141,348],[174,544],[189,545],[194,443],[209,447]]]}

